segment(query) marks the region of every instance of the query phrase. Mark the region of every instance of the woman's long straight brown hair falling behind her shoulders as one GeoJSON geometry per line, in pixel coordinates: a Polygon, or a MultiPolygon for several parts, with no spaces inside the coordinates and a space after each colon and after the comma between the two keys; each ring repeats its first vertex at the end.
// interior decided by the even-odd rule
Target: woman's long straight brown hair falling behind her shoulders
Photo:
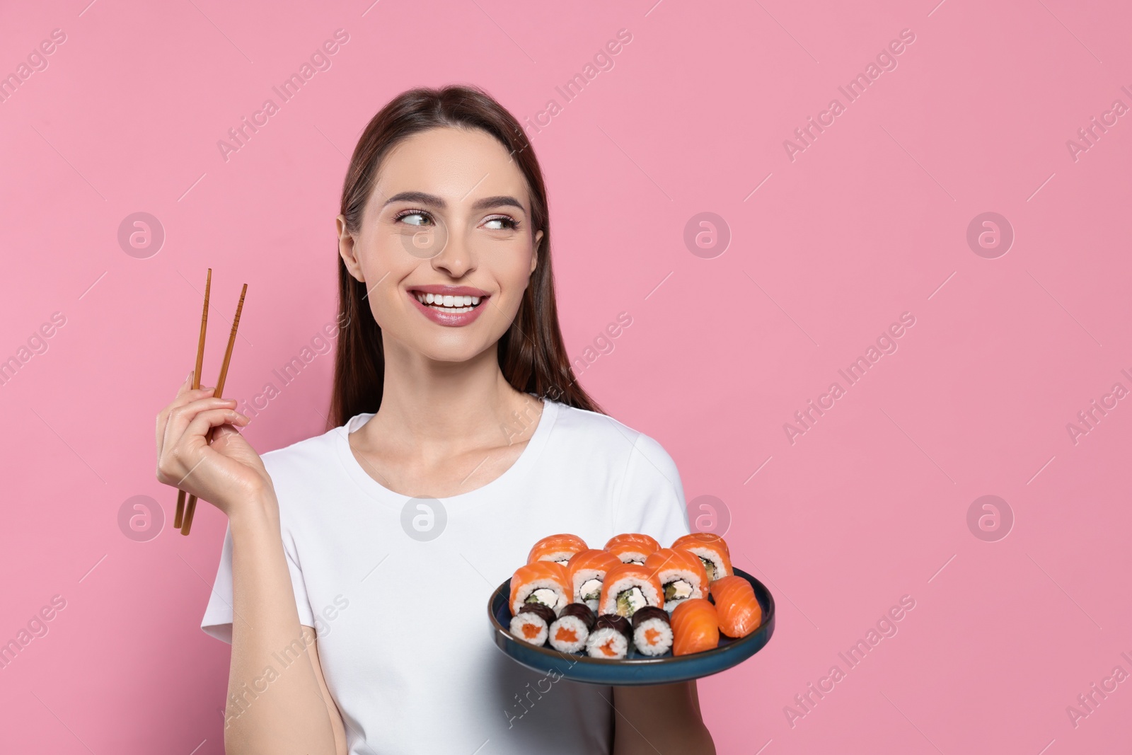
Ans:
{"type": "MultiPolygon", "coordinates": [[[[542,170],[518,121],[482,89],[446,86],[417,88],[394,97],[369,121],[350,158],[342,186],[346,230],[357,234],[381,160],[403,139],[432,128],[480,129],[498,139],[526,178],[531,194],[531,232],[542,231],[538,265],[511,327],[499,340],[499,368],[516,389],[600,412],[577,384],[563,345],[550,268],[550,217],[542,170]]],[[[376,412],[381,405],[385,354],[381,328],[366,303],[366,284],[338,257],[338,335],[334,354],[331,423],[376,412]]]]}

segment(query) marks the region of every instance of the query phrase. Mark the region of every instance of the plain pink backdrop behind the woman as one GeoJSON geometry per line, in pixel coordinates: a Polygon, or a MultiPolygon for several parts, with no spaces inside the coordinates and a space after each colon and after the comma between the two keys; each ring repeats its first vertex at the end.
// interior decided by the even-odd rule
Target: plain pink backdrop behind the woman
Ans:
{"type": "MultiPolygon", "coordinates": [[[[1075,444],[1066,423],[1132,388],[1132,118],[1077,161],[1066,140],[1132,105],[1132,14],[935,1],[6,3],[0,74],[67,38],[0,103],[0,358],[66,325],[0,387],[0,641],[67,604],[0,670],[0,750],[222,752],[229,650],[198,623],[224,521],[201,505],[172,531],[154,414],[191,366],[206,267],[206,377],[249,284],[232,396],[333,319],[345,155],[394,94],[452,81],[521,119],[558,101],[532,138],[571,354],[633,318],[582,383],[664,445],[689,500],[726,503],[736,565],[778,599],[766,650],[701,684],[720,752],[1126,746],[1132,684],[1077,726],[1066,706],[1132,672],[1132,404],[1075,444]],[[332,68],[225,162],[216,141],[337,28],[332,68]],[[621,28],[615,67],[564,104],[621,28]],[[898,68],[791,162],[783,140],[904,28],[898,68]],[[165,232],[145,259],[117,239],[135,212],[165,232]],[[684,243],[701,212],[730,228],[721,256],[684,243]],[[1014,230],[996,259],[966,240],[984,212],[1014,230]],[[791,444],[783,423],[906,311],[899,350],[791,444]],[[118,523],[139,495],[165,516],[142,542],[118,523]],[[1013,512],[1005,539],[968,527],[984,495],[1013,512]],[[791,722],[902,595],[899,633],[791,722]]],[[[259,413],[257,448],[321,430],[331,368],[259,413]]]]}

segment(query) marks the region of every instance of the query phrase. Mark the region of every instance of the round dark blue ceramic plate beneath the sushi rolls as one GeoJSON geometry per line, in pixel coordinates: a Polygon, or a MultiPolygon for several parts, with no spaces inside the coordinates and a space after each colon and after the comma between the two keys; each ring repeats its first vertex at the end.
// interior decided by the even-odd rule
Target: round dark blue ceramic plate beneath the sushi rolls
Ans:
{"type": "Polygon", "coordinates": [[[672,652],[659,657],[641,655],[636,650],[621,660],[590,658],[585,653],[560,653],[549,645],[534,645],[516,640],[508,632],[511,626],[511,608],[507,600],[511,597],[511,580],[507,580],[491,594],[488,601],[488,617],[491,620],[491,638],[504,653],[523,666],[540,674],[560,675],[573,681],[627,687],[633,685],[672,684],[687,681],[700,677],[719,674],[737,663],[747,660],[770,641],[774,634],[774,598],[766,586],[746,572],[735,569],[755,589],[755,598],[763,609],[763,623],[753,633],[741,640],[720,636],[714,650],[705,650],[691,655],[672,655],[672,652]]]}

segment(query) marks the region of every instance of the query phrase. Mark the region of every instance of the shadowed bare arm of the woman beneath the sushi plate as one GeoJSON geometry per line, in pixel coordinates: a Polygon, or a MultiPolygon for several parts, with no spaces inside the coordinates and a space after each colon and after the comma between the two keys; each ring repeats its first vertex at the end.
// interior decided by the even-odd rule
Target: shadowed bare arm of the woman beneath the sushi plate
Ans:
{"type": "Polygon", "coordinates": [[[695,681],[614,687],[614,755],[715,755],[695,681]]]}

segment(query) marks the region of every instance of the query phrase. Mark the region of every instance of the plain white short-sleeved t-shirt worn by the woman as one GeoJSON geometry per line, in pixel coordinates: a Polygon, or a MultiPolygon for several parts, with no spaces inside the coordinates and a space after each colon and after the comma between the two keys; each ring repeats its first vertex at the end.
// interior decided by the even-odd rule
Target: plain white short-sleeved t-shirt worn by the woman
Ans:
{"type": "MultiPolygon", "coordinates": [[[[488,599],[548,534],[593,548],[620,532],[663,546],[686,534],[671,457],[609,417],[547,401],[511,469],[437,504],[384,488],[358,463],[346,436],[371,417],[264,455],[299,623],[318,633],[350,753],[610,752],[610,688],[504,655],[488,599]]],[[[232,641],[231,531],[201,628],[232,641]]]]}

